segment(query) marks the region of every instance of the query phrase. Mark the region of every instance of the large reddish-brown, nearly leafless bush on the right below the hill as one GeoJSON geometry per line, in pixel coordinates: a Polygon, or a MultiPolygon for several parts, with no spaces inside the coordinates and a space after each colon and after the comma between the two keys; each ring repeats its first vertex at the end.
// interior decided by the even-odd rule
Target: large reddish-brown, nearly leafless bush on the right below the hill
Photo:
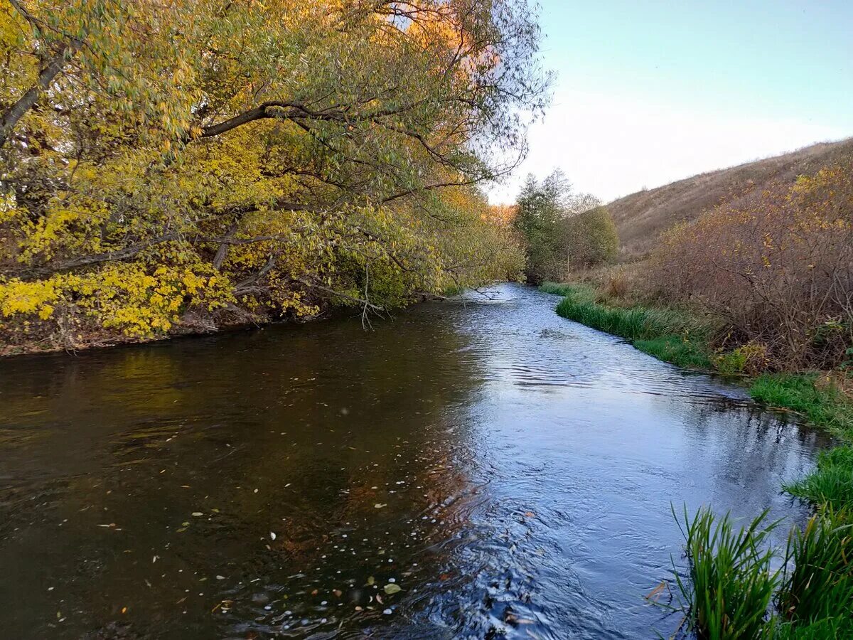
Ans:
{"type": "Polygon", "coordinates": [[[722,317],[780,370],[832,369],[853,344],[853,159],[772,183],[663,238],[649,282],[722,317]]]}

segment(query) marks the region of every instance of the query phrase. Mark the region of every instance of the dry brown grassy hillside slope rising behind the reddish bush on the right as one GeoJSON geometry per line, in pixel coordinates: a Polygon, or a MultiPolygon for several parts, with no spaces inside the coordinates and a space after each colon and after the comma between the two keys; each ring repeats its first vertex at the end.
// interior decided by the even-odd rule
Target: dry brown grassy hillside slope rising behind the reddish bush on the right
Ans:
{"type": "Polygon", "coordinates": [[[682,220],[694,220],[721,201],[761,188],[775,178],[794,180],[819,171],[844,155],[853,154],[853,138],[818,143],[790,154],[701,173],[656,189],[647,189],[612,201],[609,207],[622,241],[623,259],[639,258],[661,232],[682,220]]]}

